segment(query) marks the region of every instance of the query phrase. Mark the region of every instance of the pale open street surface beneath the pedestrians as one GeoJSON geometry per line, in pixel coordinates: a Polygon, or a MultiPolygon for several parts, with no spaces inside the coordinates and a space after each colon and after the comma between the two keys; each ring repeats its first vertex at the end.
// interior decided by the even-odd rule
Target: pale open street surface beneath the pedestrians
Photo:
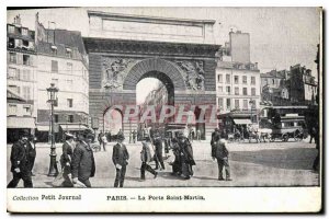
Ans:
{"type": "MultiPolygon", "coordinates": [[[[93,187],[113,187],[115,169],[112,163],[112,147],[107,143],[106,151],[94,153],[97,163],[95,177],[91,178],[93,187]]],[[[8,146],[8,159],[11,146],[8,146]]],[[[49,165],[49,146],[37,143],[37,157],[34,166],[34,187],[52,187],[53,177],[47,176],[49,165]]],[[[319,184],[319,174],[311,171],[311,164],[317,155],[315,143],[302,142],[271,142],[271,143],[228,143],[229,163],[231,169],[230,182],[217,181],[217,162],[211,158],[208,142],[193,142],[194,176],[184,181],[172,176],[171,165],[166,160],[166,170],[160,171],[157,178],[146,173],[146,181],[140,177],[141,143],[127,145],[131,154],[127,166],[125,187],[163,187],[163,186],[313,186],[319,184]]],[[[57,145],[57,160],[61,153],[61,145],[57,145]]],[[[151,163],[155,166],[154,163],[151,163]]],[[[58,166],[60,168],[60,166],[58,166]]],[[[7,181],[12,177],[10,164],[7,166],[7,181]]],[[[19,187],[23,186],[20,182],[19,187]]]]}

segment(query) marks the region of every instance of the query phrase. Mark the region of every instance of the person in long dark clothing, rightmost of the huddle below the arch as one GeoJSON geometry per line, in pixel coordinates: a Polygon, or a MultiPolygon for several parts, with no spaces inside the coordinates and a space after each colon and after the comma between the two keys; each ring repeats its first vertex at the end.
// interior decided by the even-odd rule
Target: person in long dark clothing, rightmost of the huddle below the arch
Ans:
{"type": "Polygon", "coordinates": [[[180,158],[182,164],[182,174],[184,175],[185,180],[190,180],[194,174],[192,166],[195,165],[192,145],[183,132],[179,134],[178,145],[181,152],[180,158]]]}

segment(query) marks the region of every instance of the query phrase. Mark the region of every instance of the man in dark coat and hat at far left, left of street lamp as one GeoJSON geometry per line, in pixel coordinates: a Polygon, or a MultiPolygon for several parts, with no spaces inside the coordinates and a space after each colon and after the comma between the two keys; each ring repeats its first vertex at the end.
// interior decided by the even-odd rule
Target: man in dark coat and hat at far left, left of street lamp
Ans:
{"type": "Polygon", "coordinates": [[[31,178],[31,158],[29,155],[32,150],[29,143],[30,134],[27,130],[24,130],[20,135],[21,139],[16,141],[11,149],[10,161],[13,178],[8,184],[8,188],[16,187],[21,180],[24,182],[24,187],[33,187],[31,178]]]}

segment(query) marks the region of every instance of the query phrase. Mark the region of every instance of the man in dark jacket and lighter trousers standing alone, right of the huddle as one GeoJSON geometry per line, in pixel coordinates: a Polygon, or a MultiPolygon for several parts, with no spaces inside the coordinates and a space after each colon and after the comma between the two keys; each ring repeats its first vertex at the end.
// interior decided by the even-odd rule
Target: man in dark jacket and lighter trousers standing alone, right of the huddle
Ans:
{"type": "Polygon", "coordinates": [[[213,159],[217,159],[218,164],[218,181],[224,181],[223,177],[223,168],[226,172],[226,181],[231,181],[230,170],[228,164],[228,150],[226,148],[226,141],[220,139],[219,135],[214,136],[214,153],[212,154],[213,159]]]}

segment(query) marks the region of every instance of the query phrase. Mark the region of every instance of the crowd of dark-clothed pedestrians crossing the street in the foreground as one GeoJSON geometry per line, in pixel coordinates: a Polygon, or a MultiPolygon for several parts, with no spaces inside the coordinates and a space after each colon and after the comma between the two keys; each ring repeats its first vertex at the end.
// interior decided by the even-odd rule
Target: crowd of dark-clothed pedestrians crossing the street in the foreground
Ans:
{"type": "MultiPolygon", "coordinates": [[[[33,187],[33,166],[36,158],[35,139],[29,131],[22,131],[20,137],[20,140],[13,143],[11,149],[10,161],[12,180],[8,184],[9,188],[16,187],[21,180],[23,180],[24,187],[33,187]]],[[[101,148],[103,148],[104,151],[106,151],[104,143],[106,141],[103,132],[101,132],[98,138],[101,148]]],[[[169,165],[171,165],[171,174],[183,180],[193,177],[193,166],[196,165],[196,162],[193,155],[191,142],[193,140],[191,140],[191,138],[192,134],[188,134],[186,136],[183,131],[179,131],[178,135],[170,139],[168,139],[168,137],[162,138],[159,130],[152,130],[144,135],[140,151],[140,181],[146,180],[146,172],[151,173],[154,178],[156,178],[159,171],[166,170],[163,162],[166,155],[163,157],[162,154],[163,146],[166,154],[169,150],[172,150],[173,160],[169,162],[169,165]],[[151,162],[155,162],[155,169],[150,165],[151,162]]],[[[69,132],[66,134],[66,139],[63,143],[63,152],[59,159],[61,171],[59,176],[56,177],[60,183],[58,184],[57,182],[54,186],[92,186],[90,177],[93,177],[97,172],[92,139],[93,135],[90,134],[90,131],[82,131],[78,138],[69,132]]],[[[125,137],[122,130],[117,132],[115,139],[116,143],[113,146],[112,152],[112,162],[115,168],[114,187],[123,187],[131,155],[124,143],[125,137]]],[[[318,149],[317,138],[316,142],[318,149]]],[[[214,161],[217,161],[218,181],[231,181],[228,160],[229,151],[227,150],[226,145],[225,136],[216,128],[212,134],[211,157],[214,161]]],[[[318,165],[318,158],[314,165],[318,165]]]]}

